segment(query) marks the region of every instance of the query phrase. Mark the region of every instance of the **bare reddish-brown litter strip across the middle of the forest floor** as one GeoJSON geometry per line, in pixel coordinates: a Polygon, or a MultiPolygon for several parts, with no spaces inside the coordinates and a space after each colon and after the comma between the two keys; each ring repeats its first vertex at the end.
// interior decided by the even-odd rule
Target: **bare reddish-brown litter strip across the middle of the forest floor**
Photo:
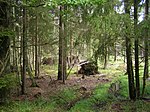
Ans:
{"type": "Polygon", "coordinates": [[[64,84],[62,81],[56,80],[56,76],[43,75],[35,79],[38,87],[32,87],[31,79],[27,78],[26,94],[19,95],[17,97],[15,94],[13,100],[32,101],[37,97],[47,98],[66,88],[76,88],[79,91],[83,90],[90,92],[99,84],[108,83],[112,80],[110,78],[107,78],[104,74],[86,76],[84,79],[82,79],[81,77],[81,74],[71,75],[64,84]]]}

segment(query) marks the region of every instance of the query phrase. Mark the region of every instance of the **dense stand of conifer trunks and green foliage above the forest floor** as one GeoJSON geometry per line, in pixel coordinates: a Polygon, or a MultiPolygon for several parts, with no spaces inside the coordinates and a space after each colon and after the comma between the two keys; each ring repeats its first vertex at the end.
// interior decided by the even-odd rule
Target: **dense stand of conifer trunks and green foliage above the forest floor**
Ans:
{"type": "Polygon", "coordinates": [[[84,80],[109,70],[112,62],[125,65],[121,69],[128,76],[129,98],[144,98],[149,88],[149,4],[0,0],[0,102],[12,90],[26,94],[27,79],[32,87],[39,87],[37,80],[46,75],[66,84],[73,72],[84,80]],[[47,68],[55,72],[43,72],[47,68]]]}

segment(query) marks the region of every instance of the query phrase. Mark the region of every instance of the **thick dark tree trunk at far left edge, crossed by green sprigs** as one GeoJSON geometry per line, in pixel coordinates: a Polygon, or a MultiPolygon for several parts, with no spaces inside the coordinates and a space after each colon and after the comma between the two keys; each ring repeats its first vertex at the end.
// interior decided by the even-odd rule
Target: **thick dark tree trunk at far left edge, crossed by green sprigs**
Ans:
{"type": "MultiPolygon", "coordinates": [[[[0,32],[9,28],[8,5],[6,2],[0,1],[0,32]]],[[[10,38],[7,35],[0,36],[0,76],[10,72],[10,38]]]]}

